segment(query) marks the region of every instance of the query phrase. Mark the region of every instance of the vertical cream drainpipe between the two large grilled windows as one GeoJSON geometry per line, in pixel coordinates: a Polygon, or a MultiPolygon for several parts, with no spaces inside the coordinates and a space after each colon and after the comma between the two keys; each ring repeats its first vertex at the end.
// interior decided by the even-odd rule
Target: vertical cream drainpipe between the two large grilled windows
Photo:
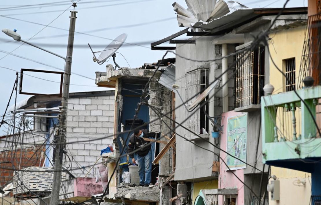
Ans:
{"type": "MultiPolygon", "coordinates": [[[[227,44],[222,44],[222,56],[227,56],[227,44]]],[[[227,58],[222,59],[222,84],[223,84],[223,112],[229,111],[229,86],[227,85],[228,81],[228,72],[226,72],[228,69],[227,66],[227,58]]]]}

